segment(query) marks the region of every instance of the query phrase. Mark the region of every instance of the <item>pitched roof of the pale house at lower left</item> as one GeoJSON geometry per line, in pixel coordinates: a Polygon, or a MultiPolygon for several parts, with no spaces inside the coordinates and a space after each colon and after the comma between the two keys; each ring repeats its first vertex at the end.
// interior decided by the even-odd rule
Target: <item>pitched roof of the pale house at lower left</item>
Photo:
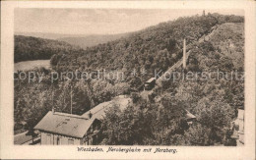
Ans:
{"type": "Polygon", "coordinates": [[[94,121],[83,116],[49,111],[34,129],[82,138],[94,121]]]}

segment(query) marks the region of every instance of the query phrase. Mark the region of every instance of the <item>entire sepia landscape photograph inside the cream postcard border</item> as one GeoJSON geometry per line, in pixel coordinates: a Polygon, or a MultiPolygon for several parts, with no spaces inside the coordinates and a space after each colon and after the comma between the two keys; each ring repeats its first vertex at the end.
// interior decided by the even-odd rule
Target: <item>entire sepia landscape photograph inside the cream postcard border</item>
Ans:
{"type": "Polygon", "coordinates": [[[18,8],[14,19],[15,144],[244,144],[242,10],[18,8]]]}

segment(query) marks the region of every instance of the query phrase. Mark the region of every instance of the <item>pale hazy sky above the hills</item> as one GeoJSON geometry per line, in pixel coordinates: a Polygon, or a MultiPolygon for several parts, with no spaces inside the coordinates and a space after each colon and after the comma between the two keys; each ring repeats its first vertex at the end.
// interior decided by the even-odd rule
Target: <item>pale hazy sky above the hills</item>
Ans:
{"type": "MultiPolygon", "coordinates": [[[[243,16],[242,10],[206,13],[243,16]]],[[[203,10],[173,9],[15,9],[15,32],[115,34],[136,31],[203,10]]]]}

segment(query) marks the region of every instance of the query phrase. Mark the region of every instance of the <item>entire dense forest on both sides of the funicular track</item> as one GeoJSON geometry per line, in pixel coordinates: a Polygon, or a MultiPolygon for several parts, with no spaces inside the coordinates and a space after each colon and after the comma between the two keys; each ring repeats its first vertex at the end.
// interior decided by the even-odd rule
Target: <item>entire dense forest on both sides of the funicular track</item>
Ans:
{"type": "MultiPolygon", "coordinates": [[[[15,131],[30,130],[52,106],[57,111],[81,115],[96,104],[120,94],[128,94],[133,105],[124,111],[111,108],[104,119],[102,144],[138,145],[235,145],[230,138],[230,122],[237,106],[244,103],[243,80],[205,79],[163,80],[145,96],[136,91],[154,70],[165,71],[182,57],[182,41],[187,39],[190,57],[182,74],[243,71],[243,17],[209,14],[179,18],[148,27],[129,37],[89,47],[58,52],[51,58],[52,70],[38,69],[38,83],[15,80],[15,131]],[[198,41],[208,35],[203,41],[198,41]],[[240,62],[240,63],[238,63],[240,62]],[[54,80],[50,72],[114,70],[125,80],[54,80]],[[130,72],[138,71],[137,76],[130,72]],[[139,71],[145,69],[146,75],[139,71]],[[72,86],[72,87],[71,87],[72,86]],[[197,122],[188,126],[189,110],[197,122]]],[[[214,76],[216,76],[214,74],[214,76]]]]}

